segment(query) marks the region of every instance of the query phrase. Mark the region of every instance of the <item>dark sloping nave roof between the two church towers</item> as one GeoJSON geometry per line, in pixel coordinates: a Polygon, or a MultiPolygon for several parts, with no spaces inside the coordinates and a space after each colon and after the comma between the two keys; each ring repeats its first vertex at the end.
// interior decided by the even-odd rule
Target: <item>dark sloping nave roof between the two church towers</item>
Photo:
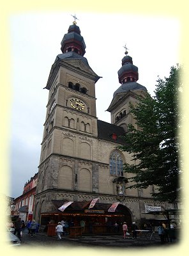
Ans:
{"type": "Polygon", "coordinates": [[[120,136],[125,135],[125,131],[123,127],[109,124],[107,122],[104,122],[102,120],[97,120],[97,127],[98,127],[98,138],[103,140],[109,140],[114,141],[116,143],[124,143],[124,140],[120,138],[120,136]],[[112,134],[116,134],[116,140],[115,136],[112,136],[112,134]]]}

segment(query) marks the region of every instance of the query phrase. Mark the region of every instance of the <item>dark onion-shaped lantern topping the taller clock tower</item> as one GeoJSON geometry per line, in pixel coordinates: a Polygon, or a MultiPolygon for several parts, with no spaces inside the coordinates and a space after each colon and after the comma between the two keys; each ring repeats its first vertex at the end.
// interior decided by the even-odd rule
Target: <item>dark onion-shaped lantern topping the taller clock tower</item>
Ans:
{"type": "MultiPolygon", "coordinates": [[[[77,18],[75,17],[75,19],[77,18]]],[[[84,56],[86,53],[85,49],[86,44],[84,42],[84,38],[80,35],[80,28],[74,20],[73,25],[70,25],[68,28],[68,33],[63,37],[61,42],[61,51],[63,53],[76,52],[77,54],[84,56]]]]}

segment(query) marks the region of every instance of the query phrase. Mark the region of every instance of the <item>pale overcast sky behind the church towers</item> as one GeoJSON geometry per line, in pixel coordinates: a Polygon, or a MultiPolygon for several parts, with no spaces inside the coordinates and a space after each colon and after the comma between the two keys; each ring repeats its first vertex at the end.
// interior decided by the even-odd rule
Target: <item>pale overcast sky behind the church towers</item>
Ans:
{"type": "MultiPolygon", "coordinates": [[[[38,172],[49,91],[49,72],[61,40],[72,25],[74,13],[25,12],[10,17],[11,154],[12,197],[20,196],[24,184],[38,172]]],[[[125,56],[139,68],[138,83],[151,95],[156,80],[168,77],[170,67],[179,63],[180,24],[163,16],[76,13],[77,25],[86,43],[87,61],[102,78],[96,83],[97,117],[110,122],[105,111],[119,84],[117,71],[125,56]]]]}

